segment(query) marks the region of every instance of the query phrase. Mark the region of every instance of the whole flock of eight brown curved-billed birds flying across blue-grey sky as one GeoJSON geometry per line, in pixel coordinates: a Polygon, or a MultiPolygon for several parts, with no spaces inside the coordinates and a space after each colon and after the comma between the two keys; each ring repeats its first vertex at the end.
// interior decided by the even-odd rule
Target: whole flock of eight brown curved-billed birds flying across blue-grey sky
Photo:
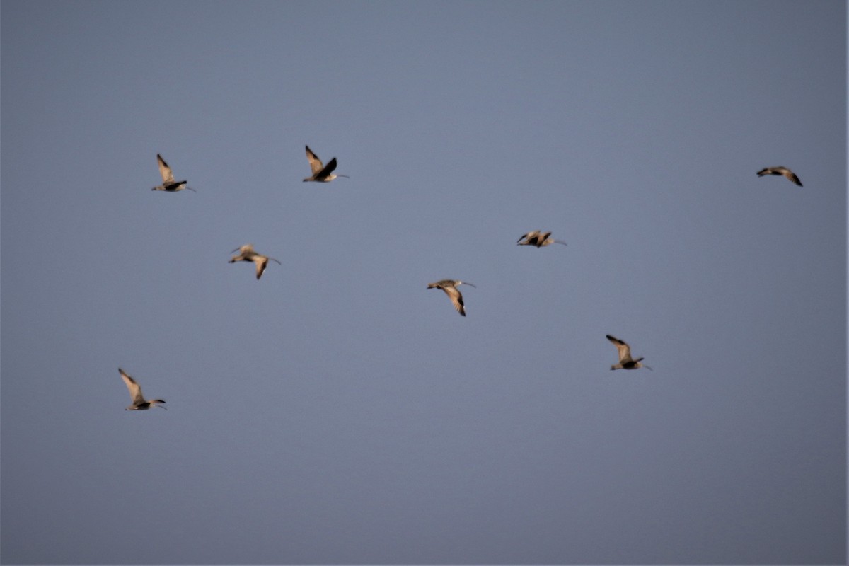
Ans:
{"type": "MultiPolygon", "coordinates": [[[[310,170],[312,171],[312,175],[310,177],[304,178],[304,181],[314,181],[314,182],[330,182],[333,181],[337,177],[346,177],[350,178],[347,175],[336,175],[333,171],[336,169],[336,158],[329,160],[327,165],[324,165],[322,160],[318,159],[318,155],[312,153],[312,149],[309,146],[306,146],[306,160],[310,163],[310,170]]],[[[168,166],[165,160],[162,159],[160,154],[156,154],[156,161],[159,163],[160,175],[162,176],[162,184],[157,185],[152,190],[155,191],[166,191],[168,193],[176,193],[177,191],[182,191],[183,189],[188,189],[197,193],[194,188],[188,187],[188,181],[174,181],[174,174],[171,171],[171,167],[168,166]]],[[[790,171],[787,167],[783,165],[779,165],[777,167],[766,167],[761,171],[757,171],[758,177],[763,177],[764,175],[781,175],[786,177],[790,182],[796,183],[796,185],[802,186],[799,177],[796,177],[796,173],[790,171]]],[[[554,239],[551,237],[550,232],[543,233],[541,230],[534,230],[533,232],[529,232],[524,234],[521,238],[516,241],[517,245],[532,245],[537,248],[543,248],[544,246],[550,244],[563,244],[567,245],[564,241],[554,239]]],[[[236,261],[253,261],[256,265],[256,278],[259,279],[262,277],[262,272],[265,271],[266,266],[268,265],[268,261],[276,261],[278,264],[283,265],[280,261],[275,260],[273,257],[268,257],[267,255],[262,255],[254,250],[252,244],[245,244],[243,246],[239,246],[239,248],[233,249],[233,252],[239,252],[239,255],[233,255],[232,258],[228,261],[228,263],[235,263],[236,261]]],[[[442,279],[441,281],[436,281],[436,283],[428,283],[427,289],[442,289],[442,291],[448,295],[448,299],[451,300],[452,305],[454,305],[454,309],[456,309],[460,315],[466,316],[465,304],[463,302],[463,294],[461,294],[457,288],[460,285],[469,285],[470,287],[475,287],[472,283],[468,281],[459,281],[455,279],[442,279]]],[[[616,351],[619,354],[619,362],[610,366],[611,370],[614,369],[638,369],[640,367],[645,367],[646,369],[651,369],[651,367],[645,365],[643,363],[643,357],[638,357],[636,360],[631,357],[631,346],[627,345],[624,340],[618,339],[614,336],[610,336],[610,334],[606,335],[606,338],[610,340],[612,345],[616,346],[616,351]]],[[[121,379],[124,380],[124,383],[127,384],[127,389],[130,392],[130,399],[132,399],[132,405],[127,406],[127,411],[146,411],[152,406],[158,406],[162,409],[165,407],[162,406],[165,401],[161,399],[154,399],[148,401],[142,395],[142,388],[136,382],[135,379],[130,377],[124,370],[120,367],[118,368],[118,373],[121,374],[121,379]]]]}

